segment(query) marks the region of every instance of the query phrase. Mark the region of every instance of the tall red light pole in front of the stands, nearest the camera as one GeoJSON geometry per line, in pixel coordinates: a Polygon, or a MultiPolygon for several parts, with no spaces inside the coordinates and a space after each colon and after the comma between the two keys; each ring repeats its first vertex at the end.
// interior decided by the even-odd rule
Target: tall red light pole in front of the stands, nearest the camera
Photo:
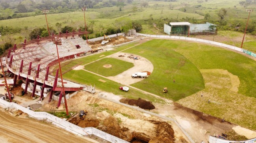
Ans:
{"type": "MultiPolygon", "coordinates": [[[[54,38],[54,43],[56,44],[56,49],[57,49],[57,55],[58,55],[58,62],[59,62],[59,51],[58,51],[58,45],[62,45],[62,38],[54,38]]],[[[63,78],[62,78],[62,72],[61,72],[61,67],[60,67],[60,62],[59,62],[59,72],[60,72],[60,76],[61,76],[61,84],[62,84],[62,92],[63,92],[63,96],[64,96],[64,102],[65,102],[65,108],[66,108],[66,113],[67,116],[69,115],[69,110],[67,107],[67,100],[66,100],[66,95],[65,95],[65,89],[64,89],[64,84],[63,84],[63,78]]]]}

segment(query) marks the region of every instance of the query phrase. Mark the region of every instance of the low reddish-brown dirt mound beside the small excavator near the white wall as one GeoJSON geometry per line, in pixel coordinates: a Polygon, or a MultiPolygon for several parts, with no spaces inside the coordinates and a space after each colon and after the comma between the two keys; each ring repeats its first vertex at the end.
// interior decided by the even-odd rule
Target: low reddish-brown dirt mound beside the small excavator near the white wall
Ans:
{"type": "Polygon", "coordinates": [[[80,119],[80,118],[72,118],[69,120],[70,123],[78,125],[79,127],[98,127],[100,121],[98,119],[80,119]]]}

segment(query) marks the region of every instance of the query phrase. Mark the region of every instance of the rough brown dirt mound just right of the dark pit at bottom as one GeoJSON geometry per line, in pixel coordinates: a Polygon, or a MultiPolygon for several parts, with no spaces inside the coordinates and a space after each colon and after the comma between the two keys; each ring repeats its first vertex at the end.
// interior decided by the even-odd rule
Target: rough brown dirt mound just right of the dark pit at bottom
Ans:
{"type": "Polygon", "coordinates": [[[174,143],[173,127],[167,122],[150,120],[157,125],[156,138],[151,139],[148,143],[174,143]]]}

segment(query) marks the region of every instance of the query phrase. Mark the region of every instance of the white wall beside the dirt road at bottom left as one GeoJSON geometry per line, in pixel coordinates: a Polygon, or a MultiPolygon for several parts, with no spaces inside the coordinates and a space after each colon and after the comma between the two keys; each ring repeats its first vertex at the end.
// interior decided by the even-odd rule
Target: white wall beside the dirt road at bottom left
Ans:
{"type": "Polygon", "coordinates": [[[129,143],[127,141],[124,141],[123,139],[117,138],[115,136],[112,136],[106,132],[103,132],[101,130],[95,129],[93,127],[88,127],[88,128],[81,128],[77,125],[74,125],[72,123],[69,123],[68,121],[65,121],[61,118],[58,118],[56,116],[53,116],[52,114],[46,113],[46,112],[34,112],[32,110],[29,110],[25,107],[22,107],[16,103],[13,102],[7,102],[5,100],[1,100],[0,99],[0,107],[3,108],[15,108],[15,109],[19,109],[22,112],[25,112],[27,114],[29,114],[31,117],[36,118],[36,119],[47,119],[47,121],[52,122],[52,124],[61,127],[69,132],[72,132],[73,134],[77,134],[80,136],[84,136],[84,135],[90,135],[93,134],[99,138],[105,139],[111,143],[129,143]]]}

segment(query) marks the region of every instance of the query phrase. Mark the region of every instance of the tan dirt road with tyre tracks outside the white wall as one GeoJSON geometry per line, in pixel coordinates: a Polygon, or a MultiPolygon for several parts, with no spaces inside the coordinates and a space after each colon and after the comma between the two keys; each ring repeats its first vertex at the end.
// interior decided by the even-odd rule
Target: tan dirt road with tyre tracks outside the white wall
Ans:
{"type": "Polygon", "coordinates": [[[2,108],[0,121],[0,143],[98,143],[50,123],[31,118],[17,118],[2,108]]]}

